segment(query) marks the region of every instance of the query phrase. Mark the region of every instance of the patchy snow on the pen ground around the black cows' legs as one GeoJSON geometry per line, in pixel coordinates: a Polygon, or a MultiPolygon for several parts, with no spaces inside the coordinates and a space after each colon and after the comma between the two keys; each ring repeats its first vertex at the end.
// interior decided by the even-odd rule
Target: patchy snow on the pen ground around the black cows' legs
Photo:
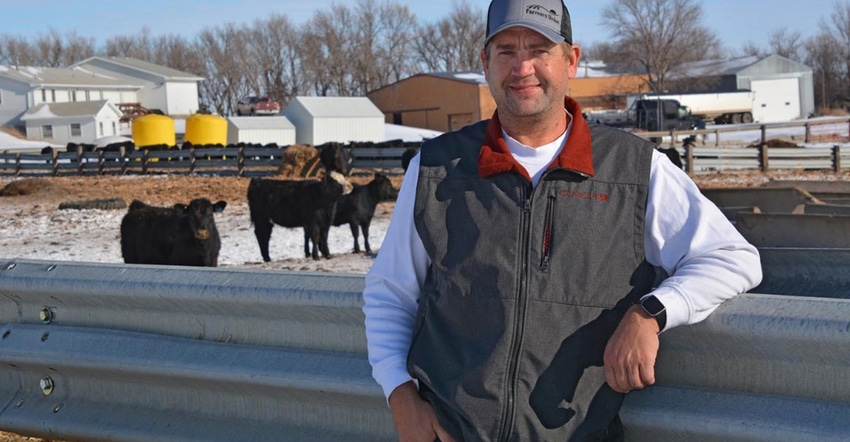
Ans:
{"type": "MultiPolygon", "coordinates": [[[[382,203],[369,230],[372,251],[381,247],[391,203],[382,203]]],[[[0,203],[0,262],[7,259],[122,263],[119,210],[22,210],[0,203]]],[[[275,226],[269,243],[271,263],[263,263],[246,204],[228,205],[215,215],[221,236],[220,267],[258,267],[365,274],[374,255],[351,253],[354,243],[347,225],[331,227],[331,259],[304,256],[303,230],[275,226]]],[[[364,249],[360,235],[360,248],[364,249]]]]}

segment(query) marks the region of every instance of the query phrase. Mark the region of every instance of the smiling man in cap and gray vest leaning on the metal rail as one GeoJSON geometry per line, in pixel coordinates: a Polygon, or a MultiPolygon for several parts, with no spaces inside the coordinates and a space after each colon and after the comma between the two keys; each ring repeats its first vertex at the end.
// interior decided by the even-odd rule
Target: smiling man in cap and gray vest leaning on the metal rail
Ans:
{"type": "Polygon", "coordinates": [[[402,441],[622,440],[658,333],[761,281],[687,175],[565,98],[580,55],[561,1],[493,0],[495,115],[410,164],[363,307],[402,441]]]}

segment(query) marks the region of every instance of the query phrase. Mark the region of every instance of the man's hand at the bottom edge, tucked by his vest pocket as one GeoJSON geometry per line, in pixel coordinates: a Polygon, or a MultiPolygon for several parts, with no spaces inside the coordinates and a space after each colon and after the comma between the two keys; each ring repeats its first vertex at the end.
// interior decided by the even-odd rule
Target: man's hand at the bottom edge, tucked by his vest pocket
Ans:
{"type": "Polygon", "coordinates": [[[413,382],[396,387],[389,402],[400,442],[454,442],[437,422],[431,404],[419,397],[413,382]]]}

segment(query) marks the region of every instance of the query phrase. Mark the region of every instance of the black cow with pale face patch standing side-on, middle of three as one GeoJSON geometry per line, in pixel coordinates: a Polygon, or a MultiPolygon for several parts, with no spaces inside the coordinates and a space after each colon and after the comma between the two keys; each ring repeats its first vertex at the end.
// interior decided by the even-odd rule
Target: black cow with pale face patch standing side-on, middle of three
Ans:
{"type": "Polygon", "coordinates": [[[336,202],[351,185],[339,172],[326,173],[321,181],[291,181],[252,178],[248,184],[248,207],[254,235],[263,261],[270,262],[269,239],[275,224],[304,228],[304,256],[331,258],[328,232],[336,202]],[[313,242],[310,252],[309,242],[313,242]]]}

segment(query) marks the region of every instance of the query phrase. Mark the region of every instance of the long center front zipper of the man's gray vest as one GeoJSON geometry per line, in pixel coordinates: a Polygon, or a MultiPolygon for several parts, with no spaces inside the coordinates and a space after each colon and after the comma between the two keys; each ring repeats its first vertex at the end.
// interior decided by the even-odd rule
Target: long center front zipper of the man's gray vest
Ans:
{"type": "Polygon", "coordinates": [[[526,307],[526,284],[528,281],[527,273],[528,273],[528,262],[529,262],[529,247],[528,247],[528,238],[529,238],[529,226],[531,225],[531,193],[532,188],[528,188],[528,192],[526,192],[523,201],[522,207],[522,225],[520,226],[520,230],[522,232],[522,244],[520,244],[520,250],[522,252],[521,258],[521,269],[519,273],[519,284],[517,289],[517,301],[516,301],[516,321],[514,325],[514,335],[513,341],[511,342],[511,351],[508,354],[509,365],[508,365],[508,373],[506,378],[507,385],[505,386],[505,407],[502,412],[502,425],[499,430],[498,439],[499,441],[507,441],[510,438],[511,432],[513,432],[513,420],[515,414],[515,406],[516,403],[516,377],[517,370],[519,368],[519,354],[521,352],[521,342],[522,342],[522,334],[525,330],[525,307],[526,307]]]}

